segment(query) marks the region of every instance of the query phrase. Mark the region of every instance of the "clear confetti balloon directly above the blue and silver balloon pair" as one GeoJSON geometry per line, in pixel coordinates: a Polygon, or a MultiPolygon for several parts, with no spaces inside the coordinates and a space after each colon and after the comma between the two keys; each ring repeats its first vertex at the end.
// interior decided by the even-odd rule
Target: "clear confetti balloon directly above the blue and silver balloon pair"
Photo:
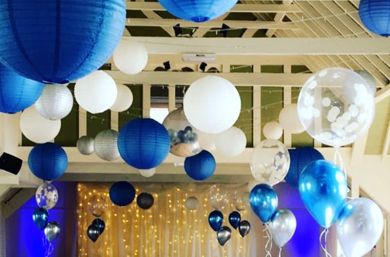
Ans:
{"type": "Polygon", "coordinates": [[[258,183],[273,186],[286,177],[290,168],[290,154],[282,142],[266,139],[254,148],[250,165],[258,183]]]}

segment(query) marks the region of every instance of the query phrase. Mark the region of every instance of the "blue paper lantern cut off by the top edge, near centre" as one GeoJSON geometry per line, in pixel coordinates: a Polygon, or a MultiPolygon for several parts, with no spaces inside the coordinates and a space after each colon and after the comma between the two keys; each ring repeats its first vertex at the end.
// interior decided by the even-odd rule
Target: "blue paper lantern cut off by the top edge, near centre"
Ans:
{"type": "Polygon", "coordinates": [[[227,13],[237,0],[158,0],[168,12],[183,20],[203,22],[227,13]]]}

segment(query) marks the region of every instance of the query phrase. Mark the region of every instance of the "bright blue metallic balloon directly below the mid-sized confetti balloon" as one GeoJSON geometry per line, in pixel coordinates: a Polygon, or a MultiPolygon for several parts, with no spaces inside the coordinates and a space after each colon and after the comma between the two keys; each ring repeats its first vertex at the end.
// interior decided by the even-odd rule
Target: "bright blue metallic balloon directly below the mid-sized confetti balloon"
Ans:
{"type": "Polygon", "coordinates": [[[258,184],[249,194],[252,210],[263,222],[267,222],[277,210],[277,195],[270,185],[258,184]]]}

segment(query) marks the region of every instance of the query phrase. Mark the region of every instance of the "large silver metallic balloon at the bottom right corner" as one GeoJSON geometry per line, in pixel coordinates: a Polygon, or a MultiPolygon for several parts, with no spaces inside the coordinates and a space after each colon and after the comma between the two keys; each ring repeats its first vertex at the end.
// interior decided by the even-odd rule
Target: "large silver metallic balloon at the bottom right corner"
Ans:
{"type": "Polygon", "coordinates": [[[347,202],[338,217],[337,238],[346,257],[362,257],[378,242],[383,232],[383,214],[368,198],[347,202]]]}

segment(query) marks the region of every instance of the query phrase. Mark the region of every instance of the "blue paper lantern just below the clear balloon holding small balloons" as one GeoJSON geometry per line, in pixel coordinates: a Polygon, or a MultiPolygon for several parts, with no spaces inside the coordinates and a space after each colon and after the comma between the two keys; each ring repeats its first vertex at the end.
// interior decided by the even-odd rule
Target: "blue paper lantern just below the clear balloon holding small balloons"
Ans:
{"type": "Polygon", "coordinates": [[[184,170],[190,178],[205,180],[214,174],[215,158],[210,152],[203,150],[184,160],[184,170]]]}

